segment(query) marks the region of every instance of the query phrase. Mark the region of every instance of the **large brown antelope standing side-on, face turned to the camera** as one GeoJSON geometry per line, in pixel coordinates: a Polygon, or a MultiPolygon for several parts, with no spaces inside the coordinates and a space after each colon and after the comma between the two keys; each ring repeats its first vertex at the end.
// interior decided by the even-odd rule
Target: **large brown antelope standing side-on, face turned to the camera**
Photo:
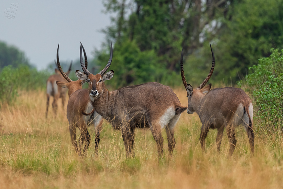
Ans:
{"type": "Polygon", "coordinates": [[[136,128],[148,127],[152,132],[158,149],[158,157],[163,153],[162,128],[166,129],[169,154],[175,147],[174,127],[180,114],[186,110],[169,86],[160,83],[144,83],[127,86],[116,91],[108,91],[104,82],[113,77],[113,70],[106,73],[112,61],[112,43],[110,58],[102,71],[91,74],[83,63],[82,44],[80,63],[83,72],[76,71],[80,80],[88,82],[88,93],[94,109],[113,128],[122,132],[126,157],[134,156],[134,134],[136,128]]]}

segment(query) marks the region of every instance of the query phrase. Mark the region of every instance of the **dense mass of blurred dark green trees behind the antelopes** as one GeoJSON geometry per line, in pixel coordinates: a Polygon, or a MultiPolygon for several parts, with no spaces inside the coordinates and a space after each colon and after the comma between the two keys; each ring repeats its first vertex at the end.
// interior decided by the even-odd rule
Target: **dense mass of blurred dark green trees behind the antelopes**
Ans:
{"type": "MultiPolygon", "coordinates": [[[[108,0],[105,7],[116,13],[103,31],[105,48],[115,43],[111,69],[121,86],[167,84],[173,76],[179,83],[182,47],[185,74],[198,85],[210,69],[209,43],[216,58],[212,80],[234,83],[258,58],[269,56],[274,44],[283,43],[282,0],[108,0]]],[[[101,66],[106,52],[95,51],[101,66]]]]}

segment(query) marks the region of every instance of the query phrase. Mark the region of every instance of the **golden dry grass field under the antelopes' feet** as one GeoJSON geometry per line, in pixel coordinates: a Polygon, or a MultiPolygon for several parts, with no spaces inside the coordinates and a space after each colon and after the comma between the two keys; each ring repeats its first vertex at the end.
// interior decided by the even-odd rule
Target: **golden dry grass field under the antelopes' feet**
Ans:
{"type": "MultiPolygon", "coordinates": [[[[185,89],[174,91],[187,106],[185,89]]],[[[228,157],[226,134],[217,152],[216,130],[209,131],[202,153],[199,117],[185,111],[175,127],[171,159],[166,132],[165,153],[158,163],[157,147],[147,129],[136,130],[136,156],[126,159],[120,132],[106,121],[98,155],[90,126],[91,145],[82,159],[71,145],[66,105],[62,108],[59,101],[57,116],[50,105],[46,119],[45,91],[19,94],[13,106],[3,104],[0,109],[0,188],[283,188],[282,131],[268,133],[256,120],[253,157],[242,126],[236,131],[233,156],[228,157]]]]}

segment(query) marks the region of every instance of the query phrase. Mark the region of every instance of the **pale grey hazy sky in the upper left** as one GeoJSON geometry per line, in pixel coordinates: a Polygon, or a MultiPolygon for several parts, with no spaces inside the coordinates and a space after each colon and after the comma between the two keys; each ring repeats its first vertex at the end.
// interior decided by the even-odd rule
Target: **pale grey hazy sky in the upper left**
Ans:
{"type": "Polygon", "coordinates": [[[100,49],[105,41],[100,30],[111,24],[110,14],[102,10],[102,0],[1,0],[0,41],[24,51],[38,69],[46,68],[56,58],[59,42],[60,60],[78,59],[80,41],[91,59],[94,47],[100,49]],[[12,3],[18,3],[15,17],[7,19],[12,3]]]}

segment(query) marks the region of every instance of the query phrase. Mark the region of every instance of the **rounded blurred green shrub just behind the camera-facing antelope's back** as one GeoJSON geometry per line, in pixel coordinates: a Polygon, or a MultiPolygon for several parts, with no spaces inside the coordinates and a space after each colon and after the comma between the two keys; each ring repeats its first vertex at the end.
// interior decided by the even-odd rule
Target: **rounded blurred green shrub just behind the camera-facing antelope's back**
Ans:
{"type": "MultiPolygon", "coordinates": [[[[115,44],[116,45],[116,44],[115,44]]],[[[115,48],[112,64],[109,71],[114,70],[114,78],[108,85],[115,87],[141,84],[156,81],[162,75],[161,66],[156,66],[158,58],[154,51],[143,51],[138,48],[135,41],[125,41],[115,48]]],[[[109,59],[108,53],[96,52],[97,63],[103,69],[109,59]]]]}

